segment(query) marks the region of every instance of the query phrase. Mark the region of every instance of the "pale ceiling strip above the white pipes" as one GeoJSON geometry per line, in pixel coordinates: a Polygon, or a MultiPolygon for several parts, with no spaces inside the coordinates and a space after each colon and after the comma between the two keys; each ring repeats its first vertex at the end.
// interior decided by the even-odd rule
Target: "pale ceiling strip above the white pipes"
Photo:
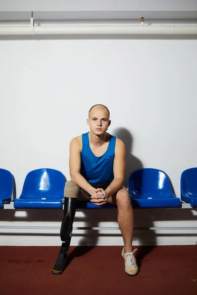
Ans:
{"type": "Polygon", "coordinates": [[[0,21],[197,20],[197,0],[0,0],[0,21]]]}

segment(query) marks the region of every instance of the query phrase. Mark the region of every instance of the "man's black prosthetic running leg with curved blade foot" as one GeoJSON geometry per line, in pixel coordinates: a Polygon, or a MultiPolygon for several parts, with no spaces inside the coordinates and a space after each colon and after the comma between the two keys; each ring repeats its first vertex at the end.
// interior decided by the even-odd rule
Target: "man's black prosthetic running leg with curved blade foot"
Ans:
{"type": "Polygon", "coordinates": [[[60,237],[63,241],[55,266],[52,269],[53,274],[62,274],[66,268],[66,258],[72,236],[72,223],[76,211],[76,198],[65,198],[64,212],[65,216],[62,221],[60,237]]]}

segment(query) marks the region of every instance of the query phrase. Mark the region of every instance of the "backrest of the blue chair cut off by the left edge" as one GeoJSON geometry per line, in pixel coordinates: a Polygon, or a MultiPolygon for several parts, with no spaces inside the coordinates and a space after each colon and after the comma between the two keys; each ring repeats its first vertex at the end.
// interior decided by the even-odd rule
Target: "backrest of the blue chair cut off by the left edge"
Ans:
{"type": "Polygon", "coordinates": [[[11,197],[13,191],[12,174],[0,168],[0,198],[11,197]]]}

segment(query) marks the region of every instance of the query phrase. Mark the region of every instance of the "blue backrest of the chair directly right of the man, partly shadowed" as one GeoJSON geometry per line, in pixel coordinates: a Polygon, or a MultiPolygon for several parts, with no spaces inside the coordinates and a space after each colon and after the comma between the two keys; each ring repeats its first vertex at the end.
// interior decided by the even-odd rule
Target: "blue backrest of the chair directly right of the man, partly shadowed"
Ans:
{"type": "Polygon", "coordinates": [[[162,195],[171,193],[171,186],[164,171],[142,168],[131,173],[128,190],[130,195],[162,195]]]}

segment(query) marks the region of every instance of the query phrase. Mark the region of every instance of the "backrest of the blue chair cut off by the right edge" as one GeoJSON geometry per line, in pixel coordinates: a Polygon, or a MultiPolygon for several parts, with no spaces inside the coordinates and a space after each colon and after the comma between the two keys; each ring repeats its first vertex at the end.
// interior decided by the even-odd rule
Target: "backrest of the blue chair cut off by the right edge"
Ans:
{"type": "Polygon", "coordinates": [[[182,172],[181,190],[186,193],[197,194],[197,167],[182,172]]]}

